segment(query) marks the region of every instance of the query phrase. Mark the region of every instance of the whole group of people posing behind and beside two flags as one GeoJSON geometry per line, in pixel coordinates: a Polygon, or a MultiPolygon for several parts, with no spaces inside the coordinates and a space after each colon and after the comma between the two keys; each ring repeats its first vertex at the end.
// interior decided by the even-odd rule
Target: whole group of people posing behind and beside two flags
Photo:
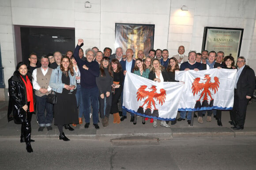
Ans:
{"type": "MultiPolygon", "coordinates": [[[[244,57],[238,57],[235,67],[234,58],[230,55],[224,57],[224,52],[221,51],[190,51],[186,56],[184,46],[180,46],[178,54],[173,57],[169,57],[167,49],[151,49],[147,57],[139,50],[135,57],[130,48],[124,55],[120,47],[114,54],[111,48],[105,48],[101,52],[94,47],[87,49],[84,56],[82,46],[83,39],[79,39],[74,52],[68,51],[64,56],[60,52],[41,56],[41,67],[37,67],[37,56],[32,53],[29,56],[30,65],[18,63],[9,79],[8,121],[14,119],[15,123],[21,124],[20,142],[26,143],[27,152],[33,152],[30,144],[34,142],[31,139],[30,122],[35,112],[39,124],[38,131],[43,131],[45,127],[48,131],[52,130],[54,115],[54,124],[60,132],[59,139],[64,141],[69,139],[65,136],[63,127],[73,131],[72,126],[83,124],[84,117],[84,127],[88,128],[90,113],[96,129],[99,129],[99,115],[104,127],[109,125],[110,114],[113,114],[113,123],[124,121],[127,111],[121,109],[120,105],[123,103],[122,91],[127,72],[157,82],[173,82],[176,81],[176,70],[237,69],[230,124],[233,129],[244,128],[247,103],[253,96],[255,85],[254,71],[245,65],[244,57]],[[47,102],[47,96],[52,92],[57,96],[57,103],[54,105],[47,102]]],[[[205,114],[206,111],[198,111],[199,123],[203,123],[205,114]]],[[[218,126],[222,126],[221,110],[207,111],[207,122],[211,122],[212,114],[217,119],[218,126]]],[[[130,121],[136,125],[137,115],[130,115],[130,121]]],[[[191,111],[181,111],[180,118],[171,121],[171,125],[185,118],[190,124],[191,117],[191,111]]],[[[145,124],[147,119],[142,117],[142,124],[145,124]]],[[[157,127],[157,119],[151,119],[151,123],[157,127]]],[[[160,122],[160,126],[170,127],[168,124],[168,121],[160,122]]]]}

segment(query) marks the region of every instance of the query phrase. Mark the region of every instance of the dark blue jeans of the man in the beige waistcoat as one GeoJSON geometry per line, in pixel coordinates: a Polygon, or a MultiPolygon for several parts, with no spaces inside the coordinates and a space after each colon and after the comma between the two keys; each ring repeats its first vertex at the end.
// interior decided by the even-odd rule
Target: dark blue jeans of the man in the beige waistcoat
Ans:
{"type": "Polygon", "coordinates": [[[53,104],[46,102],[47,95],[41,97],[35,95],[35,97],[38,111],[39,126],[51,126],[53,122],[53,104]]]}

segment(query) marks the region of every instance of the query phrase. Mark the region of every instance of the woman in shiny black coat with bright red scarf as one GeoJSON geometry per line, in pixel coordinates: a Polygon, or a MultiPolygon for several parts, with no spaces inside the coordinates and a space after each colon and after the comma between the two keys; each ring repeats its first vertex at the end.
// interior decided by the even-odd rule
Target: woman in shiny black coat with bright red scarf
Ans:
{"type": "Polygon", "coordinates": [[[21,124],[20,142],[26,142],[27,152],[33,152],[31,140],[31,117],[34,113],[34,94],[32,76],[26,63],[19,62],[13,76],[8,80],[9,106],[8,122],[14,120],[21,124]]]}

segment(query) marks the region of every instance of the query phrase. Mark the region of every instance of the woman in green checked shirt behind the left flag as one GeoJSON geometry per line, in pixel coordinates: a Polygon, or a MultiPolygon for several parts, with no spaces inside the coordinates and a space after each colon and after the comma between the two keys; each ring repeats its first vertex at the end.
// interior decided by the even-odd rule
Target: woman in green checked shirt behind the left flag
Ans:
{"type": "MultiPolygon", "coordinates": [[[[136,74],[138,76],[141,76],[143,78],[148,78],[150,70],[147,68],[147,66],[143,63],[142,59],[138,58],[136,59],[135,66],[133,68],[133,74],[136,74]]],[[[136,125],[137,123],[137,115],[134,115],[134,121],[133,125],[136,125]]],[[[145,124],[145,117],[142,117],[142,124],[145,124]]]]}

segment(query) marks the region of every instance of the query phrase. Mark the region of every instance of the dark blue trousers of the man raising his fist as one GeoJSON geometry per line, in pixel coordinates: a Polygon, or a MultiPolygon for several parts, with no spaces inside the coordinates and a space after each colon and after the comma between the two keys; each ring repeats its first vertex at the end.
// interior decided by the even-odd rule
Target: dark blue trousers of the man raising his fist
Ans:
{"type": "Polygon", "coordinates": [[[86,123],[90,123],[90,103],[92,105],[92,118],[93,124],[97,124],[99,120],[98,115],[98,96],[99,90],[98,87],[94,87],[91,89],[86,89],[81,87],[81,93],[83,98],[83,116],[85,118],[86,123]]]}

